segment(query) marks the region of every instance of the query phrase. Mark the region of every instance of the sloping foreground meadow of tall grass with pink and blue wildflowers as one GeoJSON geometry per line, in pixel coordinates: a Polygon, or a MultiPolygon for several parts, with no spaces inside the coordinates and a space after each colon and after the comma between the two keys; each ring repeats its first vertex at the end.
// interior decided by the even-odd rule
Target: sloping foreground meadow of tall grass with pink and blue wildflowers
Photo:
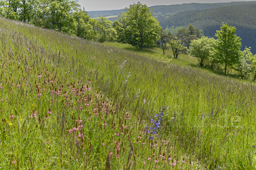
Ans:
{"type": "Polygon", "coordinates": [[[0,18],[0,170],[255,169],[255,84],[150,53],[0,18]]]}

